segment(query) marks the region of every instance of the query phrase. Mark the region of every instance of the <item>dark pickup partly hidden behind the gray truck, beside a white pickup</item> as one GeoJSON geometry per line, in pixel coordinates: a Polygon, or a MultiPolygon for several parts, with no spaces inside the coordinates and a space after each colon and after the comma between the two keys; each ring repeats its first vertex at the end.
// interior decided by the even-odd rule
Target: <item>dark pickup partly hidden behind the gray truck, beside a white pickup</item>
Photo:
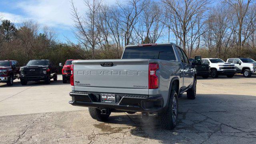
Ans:
{"type": "Polygon", "coordinates": [[[195,58],[189,59],[192,66],[196,68],[196,75],[202,76],[203,78],[208,78],[210,75],[210,66],[209,64],[202,64],[201,56],[195,56],[195,58]]]}

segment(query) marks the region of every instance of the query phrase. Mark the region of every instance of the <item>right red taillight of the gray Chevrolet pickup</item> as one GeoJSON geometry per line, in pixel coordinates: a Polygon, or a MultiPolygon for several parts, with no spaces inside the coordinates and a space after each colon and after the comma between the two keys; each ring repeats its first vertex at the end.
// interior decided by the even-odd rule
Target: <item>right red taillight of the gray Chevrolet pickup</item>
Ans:
{"type": "Polygon", "coordinates": [[[150,63],[148,65],[148,89],[158,88],[158,76],[156,70],[159,69],[159,64],[150,63]]]}

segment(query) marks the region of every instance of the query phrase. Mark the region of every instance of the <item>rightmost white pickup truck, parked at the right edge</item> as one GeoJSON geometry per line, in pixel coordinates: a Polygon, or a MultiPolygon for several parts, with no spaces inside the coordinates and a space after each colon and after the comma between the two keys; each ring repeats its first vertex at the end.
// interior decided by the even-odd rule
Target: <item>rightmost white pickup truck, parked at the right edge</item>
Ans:
{"type": "Polygon", "coordinates": [[[228,58],[227,62],[235,64],[236,72],[246,78],[256,74],[256,61],[251,58],[228,58]]]}

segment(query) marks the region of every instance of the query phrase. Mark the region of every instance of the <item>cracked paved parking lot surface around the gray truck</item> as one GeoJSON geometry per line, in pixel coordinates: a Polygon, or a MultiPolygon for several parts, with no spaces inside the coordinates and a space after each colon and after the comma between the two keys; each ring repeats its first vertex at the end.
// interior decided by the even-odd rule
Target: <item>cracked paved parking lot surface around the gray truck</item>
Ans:
{"type": "Polygon", "coordinates": [[[68,104],[69,84],[19,80],[0,83],[0,143],[256,143],[256,76],[198,78],[196,100],[179,99],[174,130],[163,130],[156,115],[112,113],[106,123],[88,108],[68,104]]]}

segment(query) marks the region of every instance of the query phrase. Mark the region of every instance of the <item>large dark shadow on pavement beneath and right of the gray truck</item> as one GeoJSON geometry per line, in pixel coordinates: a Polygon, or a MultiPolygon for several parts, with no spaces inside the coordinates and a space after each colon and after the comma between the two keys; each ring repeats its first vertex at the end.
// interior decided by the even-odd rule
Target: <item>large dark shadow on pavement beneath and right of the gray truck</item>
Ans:
{"type": "Polygon", "coordinates": [[[179,101],[178,126],[174,130],[162,129],[157,114],[143,121],[140,113],[110,115],[106,123],[94,127],[103,132],[121,132],[126,126],[111,128],[107,123],[125,124],[135,127],[130,130],[134,136],[168,144],[216,142],[210,140],[211,137],[221,138],[220,143],[227,140],[232,143],[232,140],[236,142],[235,138],[232,139],[234,133],[245,142],[250,140],[247,138],[256,138],[256,96],[198,94],[196,100],[188,100],[184,94],[179,101]]]}

